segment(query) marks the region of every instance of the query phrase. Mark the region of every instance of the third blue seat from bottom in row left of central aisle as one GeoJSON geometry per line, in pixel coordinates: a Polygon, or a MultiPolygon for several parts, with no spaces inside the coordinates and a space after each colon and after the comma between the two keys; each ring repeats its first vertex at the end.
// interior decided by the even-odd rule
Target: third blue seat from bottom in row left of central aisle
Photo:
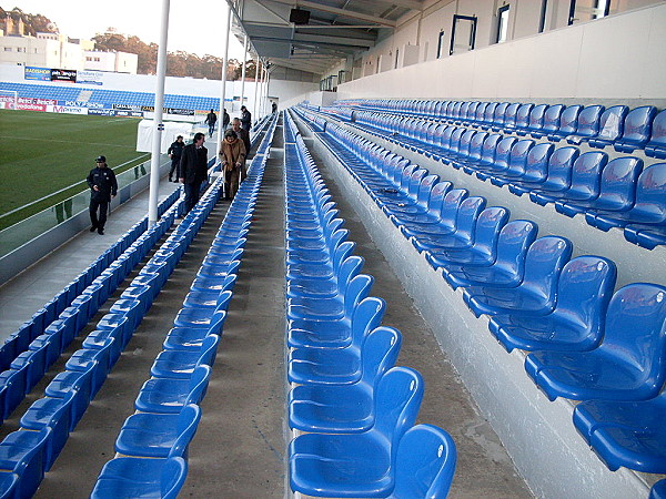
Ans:
{"type": "Polygon", "coordinates": [[[212,369],[205,364],[192,371],[190,379],[150,378],[143,384],[134,401],[142,413],[175,414],[204,397],[212,369]]]}

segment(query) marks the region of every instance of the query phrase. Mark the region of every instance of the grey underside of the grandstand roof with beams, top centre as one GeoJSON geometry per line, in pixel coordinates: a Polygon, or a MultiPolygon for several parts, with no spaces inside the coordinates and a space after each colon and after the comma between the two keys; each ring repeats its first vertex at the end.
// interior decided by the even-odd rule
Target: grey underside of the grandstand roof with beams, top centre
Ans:
{"type": "Polygon", "coordinates": [[[321,74],[374,47],[393,33],[397,19],[422,8],[423,0],[245,0],[234,32],[241,41],[248,33],[261,58],[321,74]],[[291,22],[292,9],[309,12],[307,22],[291,22]]]}

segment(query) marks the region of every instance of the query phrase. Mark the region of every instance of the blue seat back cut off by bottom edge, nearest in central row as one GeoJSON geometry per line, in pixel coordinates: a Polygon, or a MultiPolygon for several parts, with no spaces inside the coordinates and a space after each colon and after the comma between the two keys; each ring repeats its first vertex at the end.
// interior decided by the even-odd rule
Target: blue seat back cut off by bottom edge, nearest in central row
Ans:
{"type": "Polygon", "coordinates": [[[416,425],[400,440],[392,499],[445,498],[457,461],[453,438],[432,425],[416,425]]]}

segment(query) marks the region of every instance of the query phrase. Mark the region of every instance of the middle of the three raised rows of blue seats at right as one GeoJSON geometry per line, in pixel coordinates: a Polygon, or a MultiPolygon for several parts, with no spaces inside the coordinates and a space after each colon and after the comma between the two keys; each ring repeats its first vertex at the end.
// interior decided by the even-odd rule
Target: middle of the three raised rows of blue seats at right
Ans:
{"type": "Polygon", "coordinates": [[[539,204],[552,203],[567,216],[584,214],[603,231],[624,230],[625,238],[648,249],[666,244],[666,163],[643,167],[634,156],[608,161],[603,152],[504,138],[462,126],[427,125],[403,135],[377,129],[376,116],[359,120],[370,131],[478,180],[539,204]]]}

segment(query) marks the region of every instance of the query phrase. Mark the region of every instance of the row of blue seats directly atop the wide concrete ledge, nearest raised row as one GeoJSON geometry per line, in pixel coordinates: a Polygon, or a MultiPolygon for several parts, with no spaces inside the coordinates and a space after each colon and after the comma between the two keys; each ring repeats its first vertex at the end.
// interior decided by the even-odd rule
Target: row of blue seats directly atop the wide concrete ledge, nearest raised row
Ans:
{"type": "Polygon", "coordinates": [[[613,294],[613,262],[569,259],[568,240],[536,238],[536,224],[509,222],[508,210],[486,208],[484,198],[336,125],[326,130],[322,142],[447,283],[463,287],[474,314],[491,316],[507,350],[536,350],[525,367],[537,386],[551,399],[585,400],[576,427],[585,435],[579,419],[594,415],[587,431],[604,437],[586,439],[608,467],[665,472],[666,287],[636,283],[613,294]]]}

